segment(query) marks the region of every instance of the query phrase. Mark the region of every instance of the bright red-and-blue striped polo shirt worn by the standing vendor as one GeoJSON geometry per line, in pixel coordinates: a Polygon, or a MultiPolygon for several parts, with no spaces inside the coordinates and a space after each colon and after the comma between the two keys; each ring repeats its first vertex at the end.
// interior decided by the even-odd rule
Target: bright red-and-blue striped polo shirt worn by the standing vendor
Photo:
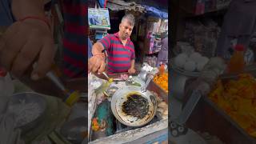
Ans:
{"type": "Polygon", "coordinates": [[[107,71],[110,74],[127,72],[131,60],[135,59],[134,43],[128,38],[126,46],[122,45],[118,33],[108,34],[99,40],[108,53],[107,71]]]}

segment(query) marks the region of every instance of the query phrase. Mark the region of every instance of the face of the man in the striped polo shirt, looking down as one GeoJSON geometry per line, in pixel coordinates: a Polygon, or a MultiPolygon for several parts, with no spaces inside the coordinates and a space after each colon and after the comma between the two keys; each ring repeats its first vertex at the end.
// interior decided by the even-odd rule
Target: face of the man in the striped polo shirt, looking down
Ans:
{"type": "Polygon", "coordinates": [[[133,28],[134,28],[134,26],[131,26],[130,22],[127,19],[125,19],[119,25],[120,37],[122,39],[130,38],[130,34],[133,31],[133,28]]]}

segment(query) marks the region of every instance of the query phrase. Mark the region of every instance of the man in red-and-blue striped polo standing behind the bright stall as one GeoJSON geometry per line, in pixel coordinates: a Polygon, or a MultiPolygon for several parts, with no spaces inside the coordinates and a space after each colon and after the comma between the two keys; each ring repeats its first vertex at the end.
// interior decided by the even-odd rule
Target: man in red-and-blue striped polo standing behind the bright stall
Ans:
{"type": "Polygon", "coordinates": [[[107,56],[107,72],[109,74],[129,72],[134,74],[135,52],[130,34],[134,28],[134,16],[126,14],[119,24],[119,31],[109,34],[96,42],[92,49],[92,58],[88,62],[88,72],[102,73],[105,71],[107,56]],[[107,55],[104,55],[106,51],[107,55]]]}

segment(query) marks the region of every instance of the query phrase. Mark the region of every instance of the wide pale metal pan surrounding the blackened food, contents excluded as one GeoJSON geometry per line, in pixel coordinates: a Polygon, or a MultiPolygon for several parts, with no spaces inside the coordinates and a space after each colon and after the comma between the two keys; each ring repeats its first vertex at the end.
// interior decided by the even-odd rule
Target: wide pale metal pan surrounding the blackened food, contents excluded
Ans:
{"type": "Polygon", "coordinates": [[[155,95],[152,94],[149,90],[146,92],[141,91],[141,88],[138,86],[124,86],[118,89],[111,100],[111,110],[114,114],[114,117],[118,119],[119,122],[126,126],[144,126],[146,123],[150,122],[157,110],[157,100],[155,95]],[[127,115],[122,111],[123,102],[127,101],[127,96],[129,94],[139,94],[142,97],[146,98],[149,102],[149,112],[144,118],[137,118],[131,115],[127,115]]]}

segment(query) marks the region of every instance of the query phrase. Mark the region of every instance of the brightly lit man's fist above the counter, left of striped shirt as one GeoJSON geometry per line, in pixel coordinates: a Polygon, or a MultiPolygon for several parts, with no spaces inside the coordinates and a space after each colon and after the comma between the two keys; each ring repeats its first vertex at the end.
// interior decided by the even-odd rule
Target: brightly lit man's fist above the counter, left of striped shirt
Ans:
{"type": "Polygon", "coordinates": [[[92,72],[98,72],[101,74],[103,71],[105,71],[106,63],[102,56],[96,55],[89,59],[88,61],[88,73],[92,72]]]}

